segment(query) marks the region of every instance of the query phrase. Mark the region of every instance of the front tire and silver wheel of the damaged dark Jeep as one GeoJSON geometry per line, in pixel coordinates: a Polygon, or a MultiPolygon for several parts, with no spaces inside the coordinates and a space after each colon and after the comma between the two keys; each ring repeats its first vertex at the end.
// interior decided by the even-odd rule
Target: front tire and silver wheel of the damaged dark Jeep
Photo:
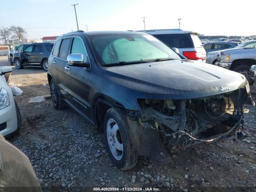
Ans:
{"type": "Polygon", "coordinates": [[[128,136],[126,115],[120,108],[110,108],[104,117],[106,148],[113,164],[120,170],[131,169],[138,161],[128,136]]]}

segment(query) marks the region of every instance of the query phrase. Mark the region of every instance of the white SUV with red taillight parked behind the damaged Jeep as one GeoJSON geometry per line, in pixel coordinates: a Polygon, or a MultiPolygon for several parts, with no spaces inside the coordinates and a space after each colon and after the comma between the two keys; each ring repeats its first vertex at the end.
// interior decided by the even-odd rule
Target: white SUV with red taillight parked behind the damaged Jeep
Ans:
{"type": "Polygon", "coordinates": [[[139,32],[145,32],[158,38],[184,58],[203,62],[206,60],[206,51],[198,38],[199,34],[196,32],[181,29],[158,29],[139,32]]]}

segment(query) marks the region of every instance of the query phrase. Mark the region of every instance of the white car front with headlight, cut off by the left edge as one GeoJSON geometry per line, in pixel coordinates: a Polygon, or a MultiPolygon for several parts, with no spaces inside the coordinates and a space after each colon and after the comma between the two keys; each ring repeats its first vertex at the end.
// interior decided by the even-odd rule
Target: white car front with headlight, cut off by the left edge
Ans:
{"type": "Polygon", "coordinates": [[[20,110],[8,86],[11,73],[11,67],[0,67],[0,134],[5,137],[16,134],[21,128],[20,110]]]}

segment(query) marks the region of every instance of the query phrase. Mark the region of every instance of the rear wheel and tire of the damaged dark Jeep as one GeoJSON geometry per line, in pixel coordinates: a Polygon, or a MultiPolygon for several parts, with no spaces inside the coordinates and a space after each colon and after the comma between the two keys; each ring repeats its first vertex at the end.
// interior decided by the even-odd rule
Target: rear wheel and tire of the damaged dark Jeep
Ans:
{"type": "Polygon", "coordinates": [[[50,81],[50,93],[51,93],[52,104],[54,108],[56,108],[57,110],[66,108],[66,103],[59,95],[57,86],[55,85],[53,79],[51,79],[50,81]]]}

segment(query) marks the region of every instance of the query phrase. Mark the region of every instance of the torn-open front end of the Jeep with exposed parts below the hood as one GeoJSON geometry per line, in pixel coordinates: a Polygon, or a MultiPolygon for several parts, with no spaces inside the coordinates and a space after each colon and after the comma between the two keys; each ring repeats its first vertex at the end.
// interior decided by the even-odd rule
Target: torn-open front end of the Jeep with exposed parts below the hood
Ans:
{"type": "Polygon", "coordinates": [[[131,140],[139,155],[162,163],[170,161],[170,152],[233,136],[248,112],[244,103],[254,105],[247,88],[205,98],[138,103],[141,111],[128,111],[130,123],[137,126],[129,130],[131,140]]]}

